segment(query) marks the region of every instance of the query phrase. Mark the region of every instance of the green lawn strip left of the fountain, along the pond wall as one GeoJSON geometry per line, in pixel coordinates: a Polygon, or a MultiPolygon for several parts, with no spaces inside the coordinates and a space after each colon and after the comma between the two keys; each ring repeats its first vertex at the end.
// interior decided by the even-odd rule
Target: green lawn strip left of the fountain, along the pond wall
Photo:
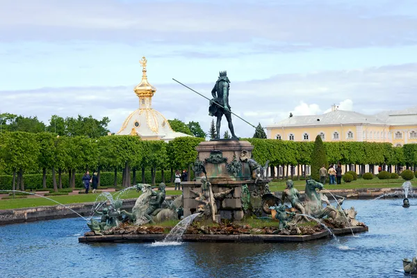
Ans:
{"type": "MultiPolygon", "coordinates": [[[[181,195],[181,190],[167,190],[166,195],[181,195]]],[[[119,195],[118,192],[111,193],[112,195],[119,195]]],[[[136,190],[129,190],[122,193],[121,199],[131,199],[139,197],[140,193],[137,193],[136,190]]],[[[50,199],[60,202],[61,204],[75,204],[75,203],[85,203],[85,202],[95,202],[99,193],[93,194],[76,194],[76,195],[65,195],[65,196],[50,196],[50,199]]],[[[103,198],[101,198],[103,199],[103,198]]],[[[33,206],[52,206],[55,205],[55,202],[52,202],[49,199],[42,197],[39,198],[27,198],[27,199],[0,199],[0,209],[10,209],[10,208],[28,208],[33,206]]]]}

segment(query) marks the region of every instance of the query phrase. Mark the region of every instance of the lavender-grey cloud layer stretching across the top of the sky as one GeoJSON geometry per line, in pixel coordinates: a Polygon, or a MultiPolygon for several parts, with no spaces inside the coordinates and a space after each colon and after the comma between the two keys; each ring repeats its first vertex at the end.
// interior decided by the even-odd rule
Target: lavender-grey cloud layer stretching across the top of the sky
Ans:
{"type": "Polygon", "coordinates": [[[400,11],[392,0],[362,2],[15,0],[0,10],[0,38],[136,46],[246,42],[254,53],[416,44],[417,17],[404,12],[416,3],[404,1],[400,11]]]}

